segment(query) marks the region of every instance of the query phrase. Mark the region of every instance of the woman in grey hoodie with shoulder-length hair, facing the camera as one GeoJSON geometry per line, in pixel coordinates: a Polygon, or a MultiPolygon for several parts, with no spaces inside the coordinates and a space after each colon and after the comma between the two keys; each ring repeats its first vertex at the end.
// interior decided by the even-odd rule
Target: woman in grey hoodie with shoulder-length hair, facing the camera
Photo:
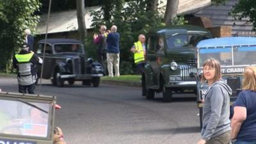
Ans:
{"type": "Polygon", "coordinates": [[[203,107],[202,139],[197,144],[229,144],[231,137],[231,88],[221,79],[220,62],[208,59],[203,65],[202,83],[208,83],[203,107]]]}

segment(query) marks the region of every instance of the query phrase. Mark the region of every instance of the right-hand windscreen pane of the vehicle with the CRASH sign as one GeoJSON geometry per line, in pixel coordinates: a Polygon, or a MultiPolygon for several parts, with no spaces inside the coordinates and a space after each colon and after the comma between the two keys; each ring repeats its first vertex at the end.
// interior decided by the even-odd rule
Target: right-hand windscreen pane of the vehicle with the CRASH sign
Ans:
{"type": "Polygon", "coordinates": [[[234,47],[234,65],[256,64],[256,45],[234,47]]]}

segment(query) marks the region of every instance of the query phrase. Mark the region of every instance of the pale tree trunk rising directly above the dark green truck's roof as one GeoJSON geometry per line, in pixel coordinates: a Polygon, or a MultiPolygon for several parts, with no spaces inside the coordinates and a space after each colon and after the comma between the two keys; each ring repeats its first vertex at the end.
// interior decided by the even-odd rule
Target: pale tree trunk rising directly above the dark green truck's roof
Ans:
{"type": "Polygon", "coordinates": [[[167,0],[166,10],[164,13],[164,23],[172,24],[172,20],[177,16],[179,0],[167,0]]]}

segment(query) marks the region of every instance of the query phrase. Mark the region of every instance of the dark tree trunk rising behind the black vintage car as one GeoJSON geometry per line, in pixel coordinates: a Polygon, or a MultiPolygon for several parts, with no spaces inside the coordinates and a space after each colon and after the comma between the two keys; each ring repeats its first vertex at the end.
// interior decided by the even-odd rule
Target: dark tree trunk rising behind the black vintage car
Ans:
{"type": "Polygon", "coordinates": [[[86,25],[84,20],[84,0],[76,0],[76,8],[79,38],[81,41],[84,42],[86,38],[86,25]]]}

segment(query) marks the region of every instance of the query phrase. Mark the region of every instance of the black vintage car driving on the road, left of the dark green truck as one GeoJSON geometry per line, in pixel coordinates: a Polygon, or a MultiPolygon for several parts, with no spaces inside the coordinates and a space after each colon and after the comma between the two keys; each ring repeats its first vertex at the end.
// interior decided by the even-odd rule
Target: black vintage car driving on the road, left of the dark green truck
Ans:
{"type": "MultiPolygon", "coordinates": [[[[99,86],[100,77],[103,76],[102,65],[86,59],[83,43],[79,40],[68,38],[51,38],[40,40],[36,45],[36,54],[43,58],[43,79],[51,79],[52,85],[62,87],[64,82],[74,84],[83,81],[84,85],[99,86]]],[[[42,67],[37,68],[40,76],[42,67]]]]}

